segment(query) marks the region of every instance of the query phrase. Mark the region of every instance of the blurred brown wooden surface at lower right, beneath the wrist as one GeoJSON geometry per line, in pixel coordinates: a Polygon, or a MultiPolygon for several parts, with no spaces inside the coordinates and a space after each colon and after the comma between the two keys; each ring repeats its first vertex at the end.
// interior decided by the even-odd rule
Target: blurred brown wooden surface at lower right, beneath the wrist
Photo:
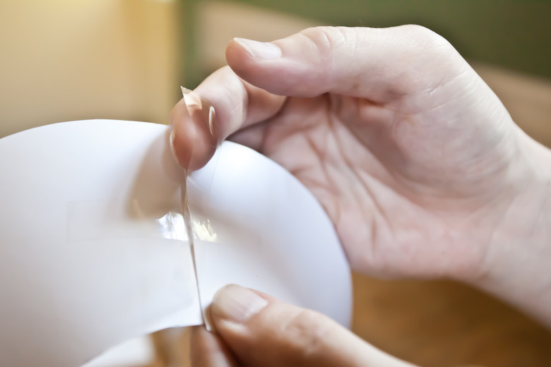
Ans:
{"type": "Polygon", "coordinates": [[[490,296],[453,282],[354,275],[352,330],[419,366],[551,366],[551,334],[490,296]]]}

